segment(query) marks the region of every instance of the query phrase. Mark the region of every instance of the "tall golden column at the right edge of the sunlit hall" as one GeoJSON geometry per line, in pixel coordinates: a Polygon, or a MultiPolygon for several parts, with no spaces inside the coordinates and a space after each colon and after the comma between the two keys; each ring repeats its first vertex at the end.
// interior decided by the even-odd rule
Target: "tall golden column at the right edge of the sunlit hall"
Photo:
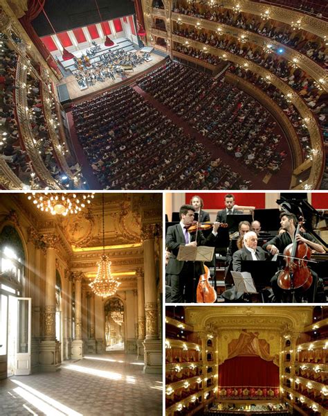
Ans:
{"type": "Polygon", "coordinates": [[[162,352],[161,340],[158,337],[158,309],[155,267],[155,224],[143,225],[143,260],[145,270],[145,315],[146,338],[144,372],[161,373],[162,352]]]}

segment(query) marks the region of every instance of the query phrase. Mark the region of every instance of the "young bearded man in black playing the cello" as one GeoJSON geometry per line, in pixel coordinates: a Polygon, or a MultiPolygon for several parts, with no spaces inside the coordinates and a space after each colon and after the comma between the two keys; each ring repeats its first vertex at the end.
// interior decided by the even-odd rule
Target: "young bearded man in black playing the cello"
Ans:
{"type": "MultiPolygon", "coordinates": [[[[287,247],[287,245],[293,243],[294,239],[296,239],[296,241],[302,241],[303,243],[306,243],[309,248],[311,248],[311,250],[315,250],[319,253],[325,253],[325,249],[322,247],[322,245],[316,243],[311,234],[308,234],[307,232],[300,232],[299,234],[295,235],[297,224],[298,220],[294,214],[285,212],[280,214],[280,225],[284,232],[273,237],[273,239],[264,244],[262,248],[268,252],[271,252],[273,255],[278,253],[284,254],[284,249],[287,247]]],[[[281,268],[283,268],[284,257],[279,256],[278,259],[282,266],[281,268]]],[[[275,302],[282,302],[282,294],[284,293],[284,291],[277,284],[277,277],[279,273],[280,271],[278,271],[271,279],[271,285],[275,295],[275,302]]],[[[307,295],[309,302],[314,302],[314,298],[316,296],[316,288],[318,287],[318,275],[316,275],[316,272],[313,272],[313,270],[311,270],[311,275],[313,277],[313,282],[305,294],[307,295]]]]}

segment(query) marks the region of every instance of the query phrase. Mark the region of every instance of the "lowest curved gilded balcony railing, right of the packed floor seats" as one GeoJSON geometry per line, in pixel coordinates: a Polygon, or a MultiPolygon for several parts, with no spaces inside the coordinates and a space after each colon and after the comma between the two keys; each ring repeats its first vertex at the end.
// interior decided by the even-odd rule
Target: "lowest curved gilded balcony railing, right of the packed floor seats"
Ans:
{"type": "MultiPolygon", "coordinates": [[[[185,44],[185,37],[172,35],[172,42],[178,42],[180,44],[185,44]]],[[[204,44],[201,42],[197,42],[195,40],[188,39],[189,46],[192,46],[196,49],[203,50],[204,44]]],[[[320,128],[316,121],[315,116],[307,107],[307,104],[302,100],[302,98],[291,88],[288,84],[284,83],[284,81],[280,80],[277,76],[273,73],[259,67],[259,65],[255,64],[254,62],[250,62],[245,58],[240,56],[234,55],[233,53],[223,51],[222,49],[214,48],[212,46],[206,45],[206,50],[208,53],[212,53],[212,55],[219,56],[224,60],[229,60],[231,62],[235,62],[236,64],[244,67],[245,69],[250,69],[257,75],[262,76],[270,81],[277,89],[279,89],[285,96],[289,98],[289,100],[293,103],[296,110],[298,110],[300,116],[304,123],[307,126],[309,131],[310,139],[311,139],[311,157],[303,162],[301,165],[295,168],[293,172],[295,175],[302,173],[309,168],[311,168],[311,172],[309,174],[309,178],[307,181],[302,182],[301,184],[296,184],[293,182],[292,186],[295,189],[316,189],[320,185],[320,180],[322,177],[322,169],[325,163],[324,157],[324,145],[322,141],[322,135],[320,132],[320,128]]],[[[201,61],[199,61],[201,62],[201,61]]]]}

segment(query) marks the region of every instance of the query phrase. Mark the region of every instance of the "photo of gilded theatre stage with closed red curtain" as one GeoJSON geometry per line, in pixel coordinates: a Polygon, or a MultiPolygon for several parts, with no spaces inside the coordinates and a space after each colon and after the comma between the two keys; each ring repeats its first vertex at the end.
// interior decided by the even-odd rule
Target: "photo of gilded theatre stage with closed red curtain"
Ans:
{"type": "Polygon", "coordinates": [[[327,415],[327,329],[327,306],[167,306],[166,415],[327,415]]]}

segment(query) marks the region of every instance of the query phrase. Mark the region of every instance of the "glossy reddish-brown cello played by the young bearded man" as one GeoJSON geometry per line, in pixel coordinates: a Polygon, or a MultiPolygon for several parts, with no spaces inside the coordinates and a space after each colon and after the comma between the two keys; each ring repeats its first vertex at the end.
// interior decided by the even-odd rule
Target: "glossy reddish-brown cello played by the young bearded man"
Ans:
{"type": "MultiPolygon", "coordinates": [[[[300,218],[295,236],[300,233],[300,227],[303,223],[304,221],[300,218]]],[[[311,270],[307,266],[307,262],[311,257],[311,251],[307,243],[296,241],[295,238],[293,243],[287,245],[284,249],[286,266],[280,270],[277,277],[277,284],[280,288],[286,291],[298,288],[302,291],[307,291],[313,281],[311,270]]]]}

